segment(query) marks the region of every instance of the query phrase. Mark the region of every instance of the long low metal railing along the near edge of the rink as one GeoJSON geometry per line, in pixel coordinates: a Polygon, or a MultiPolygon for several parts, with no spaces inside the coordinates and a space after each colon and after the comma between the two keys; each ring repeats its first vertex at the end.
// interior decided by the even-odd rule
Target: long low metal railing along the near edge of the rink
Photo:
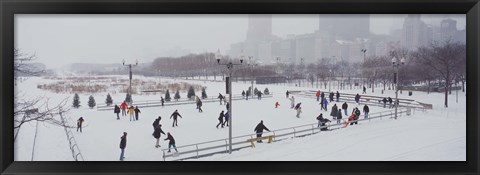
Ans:
{"type": "MultiPolygon", "coordinates": [[[[403,114],[410,115],[411,109],[409,108],[400,108],[398,110],[398,114],[400,117],[403,114]]],[[[384,112],[376,112],[369,114],[368,118],[358,119],[354,121],[348,121],[348,123],[353,122],[362,122],[362,121],[371,121],[375,119],[382,120],[383,118],[393,118],[392,116],[395,115],[393,110],[391,111],[384,111],[384,112]]],[[[332,121],[334,123],[335,121],[332,121]]],[[[306,124],[301,126],[283,128],[278,130],[272,130],[271,132],[265,132],[265,135],[273,135],[274,142],[281,141],[284,139],[295,138],[295,137],[304,137],[312,134],[316,134],[322,132],[321,129],[328,128],[329,130],[336,130],[343,128],[344,122],[339,124],[330,124],[326,126],[318,127],[318,123],[306,124]]],[[[256,138],[256,134],[248,134],[242,135],[232,138],[232,150],[237,151],[243,148],[252,147],[251,143],[248,142],[248,139],[256,138]]],[[[186,159],[194,159],[194,158],[201,158],[212,156],[214,154],[220,153],[228,153],[228,138],[225,139],[218,139],[213,141],[207,141],[202,143],[195,143],[190,145],[178,146],[177,149],[180,152],[175,153],[175,150],[172,150],[174,153],[167,152],[169,149],[162,149],[163,152],[163,160],[166,161],[167,159],[171,159],[172,161],[179,161],[179,160],[186,160],[186,159]],[[181,157],[180,157],[181,156],[181,157]]]]}

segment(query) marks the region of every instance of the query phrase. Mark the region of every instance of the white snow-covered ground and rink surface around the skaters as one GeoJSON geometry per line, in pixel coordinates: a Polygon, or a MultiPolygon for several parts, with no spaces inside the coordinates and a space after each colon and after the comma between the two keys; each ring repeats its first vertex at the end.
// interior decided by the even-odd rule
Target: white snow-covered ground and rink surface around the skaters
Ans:
{"type": "MultiPolygon", "coordinates": [[[[127,76],[123,76],[127,78],[127,76]]],[[[135,77],[134,78],[138,78],[135,77]]],[[[147,79],[145,77],[141,77],[147,79]]],[[[158,80],[158,78],[152,78],[158,80]]],[[[217,77],[218,79],[218,77],[217,77]]],[[[220,78],[221,79],[221,78],[220,78]]],[[[73,94],[55,94],[36,88],[38,83],[45,83],[42,78],[30,78],[19,83],[17,92],[25,98],[48,97],[52,104],[56,104],[69,97],[68,104],[72,104],[73,94]]],[[[224,82],[202,80],[181,80],[161,78],[160,81],[191,82],[207,86],[209,97],[216,97],[218,93],[225,94],[224,82]]],[[[239,94],[250,86],[250,82],[234,82],[233,92],[239,94]]],[[[286,90],[317,90],[315,87],[295,87],[293,85],[255,85],[259,90],[268,87],[273,98],[262,100],[249,99],[233,102],[233,135],[252,134],[254,127],[260,120],[270,130],[294,127],[298,125],[316,123],[316,117],[321,113],[318,102],[312,98],[296,97],[296,103],[302,102],[303,113],[296,118],[295,111],[289,108],[290,101],[285,98],[286,90]],[[278,101],[280,107],[275,109],[278,101]]],[[[327,86],[328,88],[328,86],[327,86]]],[[[336,91],[332,86],[332,90],[336,91]]],[[[324,90],[320,88],[320,90],[324,90]]],[[[328,90],[328,89],[326,89],[328,90]]],[[[360,93],[360,89],[341,90],[340,93],[360,93]]],[[[367,90],[372,95],[371,89],[367,90]]],[[[200,94],[200,92],[196,92],[200,94]]],[[[293,138],[273,144],[257,144],[256,148],[246,148],[229,154],[217,154],[196,160],[417,160],[417,161],[465,161],[466,160],[466,98],[465,93],[458,93],[458,103],[455,102],[456,93],[449,96],[449,108],[443,108],[443,94],[413,92],[408,96],[406,92],[399,94],[399,98],[410,98],[423,103],[433,104],[434,109],[427,112],[416,111],[414,115],[402,117],[398,120],[384,119],[361,122],[359,125],[345,129],[321,132],[302,138],[293,138]]],[[[162,116],[161,124],[165,132],[170,132],[176,140],[176,145],[187,145],[228,137],[228,128],[217,129],[218,115],[225,110],[224,105],[204,103],[203,113],[195,109],[195,105],[178,105],[165,107],[141,108],[140,120],[129,121],[128,117],[116,120],[113,111],[97,111],[87,107],[88,96],[79,94],[82,106],[71,109],[66,114],[68,120],[74,124],[79,117],[85,119],[83,133],[74,132],[75,139],[85,160],[88,161],[115,161],[118,160],[120,137],[128,132],[126,161],[160,161],[162,151],[155,148],[155,139],[152,137],[152,122],[162,116]],[[172,128],[169,119],[175,109],[178,109],[183,118],[179,118],[179,127],[172,128]]],[[[120,103],[125,94],[111,94],[114,103],[120,103]]],[[[171,94],[173,95],[173,94],[171,94]]],[[[394,97],[393,90],[380,94],[380,88],[375,89],[373,95],[394,97]]],[[[97,105],[103,104],[106,93],[93,94],[97,105]]],[[[186,92],[181,96],[186,97],[186,92]]],[[[134,101],[158,100],[159,95],[134,95],[134,101]]],[[[342,102],[343,103],[343,102],[342,102]]],[[[329,110],[332,104],[329,104],[329,110]]],[[[337,106],[341,103],[337,103],[337,106]]],[[[354,104],[349,103],[349,111],[354,104]]],[[[359,108],[363,107],[360,106],[359,108]]],[[[371,106],[370,111],[379,112],[388,109],[371,106]]],[[[329,111],[330,112],[330,111],[329,111]]],[[[324,113],[324,116],[328,116],[324,113]]],[[[32,148],[35,135],[35,123],[22,127],[15,142],[15,160],[32,160],[32,148]]],[[[161,146],[166,148],[168,141],[161,146]]],[[[181,151],[181,150],[180,150],[181,151]]],[[[68,141],[63,128],[49,124],[39,124],[35,149],[35,161],[71,161],[73,160],[68,141]]],[[[193,160],[193,159],[192,159],[193,160]]]]}

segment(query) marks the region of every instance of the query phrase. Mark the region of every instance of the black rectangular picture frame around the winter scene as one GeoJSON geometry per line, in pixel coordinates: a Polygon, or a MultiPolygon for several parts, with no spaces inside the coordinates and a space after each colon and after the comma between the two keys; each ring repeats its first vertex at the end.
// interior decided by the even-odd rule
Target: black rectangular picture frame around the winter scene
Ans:
{"type": "Polygon", "coordinates": [[[2,0],[2,174],[478,174],[478,0],[2,0]],[[463,162],[20,162],[13,161],[15,14],[466,14],[467,155],[463,162]]]}

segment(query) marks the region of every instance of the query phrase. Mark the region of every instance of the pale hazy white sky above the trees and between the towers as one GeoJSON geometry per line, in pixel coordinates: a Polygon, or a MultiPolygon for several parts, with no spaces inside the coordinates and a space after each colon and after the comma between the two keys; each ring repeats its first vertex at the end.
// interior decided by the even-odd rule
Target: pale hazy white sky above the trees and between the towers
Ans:
{"type": "MultiPolygon", "coordinates": [[[[402,27],[406,15],[371,15],[370,30],[388,34],[402,27]]],[[[465,28],[465,15],[425,15],[425,22],[457,20],[465,28]]],[[[272,32],[312,33],[318,15],[273,15],[272,32]]],[[[15,15],[15,47],[36,54],[48,68],[70,63],[151,61],[175,48],[194,53],[222,53],[246,38],[247,15],[15,15]]]]}

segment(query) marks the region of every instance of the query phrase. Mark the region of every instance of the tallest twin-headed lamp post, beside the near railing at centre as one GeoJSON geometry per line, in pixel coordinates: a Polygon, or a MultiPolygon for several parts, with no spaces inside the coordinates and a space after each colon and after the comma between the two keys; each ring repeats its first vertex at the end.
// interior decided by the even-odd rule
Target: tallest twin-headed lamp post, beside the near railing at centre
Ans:
{"type": "Polygon", "coordinates": [[[239,63],[233,63],[232,61],[229,61],[228,63],[220,63],[220,49],[217,51],[217,63],[219,65],[226,65],[228,69],[228,104],[229,109],[228,113],[230,115],[230,119],[228,120],[228,142],[229,142],[229,154],[232,154],[232,109],[233,109],[233,104],[232,104],[232,73],[233,73],[233,66],[234,65],[241,65],[243,63],[243,55],[240,57],[240,64],[239,63]]]}

